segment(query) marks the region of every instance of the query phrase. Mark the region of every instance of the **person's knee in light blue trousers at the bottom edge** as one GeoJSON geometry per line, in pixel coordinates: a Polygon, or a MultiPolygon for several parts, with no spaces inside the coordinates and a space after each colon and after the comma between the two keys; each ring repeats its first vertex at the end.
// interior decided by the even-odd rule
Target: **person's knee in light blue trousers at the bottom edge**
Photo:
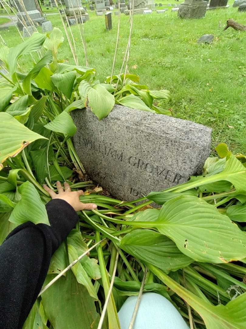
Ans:
{"type": "MultiPolygon", "coordinates": [[[[128,329],[136,300],[137,296],[130,296],[122,305],[118,313],[121,329],[128,329]]],[[[173,304],[154,292],[143,293],[133,328],[189,329],[173,304]]]]}

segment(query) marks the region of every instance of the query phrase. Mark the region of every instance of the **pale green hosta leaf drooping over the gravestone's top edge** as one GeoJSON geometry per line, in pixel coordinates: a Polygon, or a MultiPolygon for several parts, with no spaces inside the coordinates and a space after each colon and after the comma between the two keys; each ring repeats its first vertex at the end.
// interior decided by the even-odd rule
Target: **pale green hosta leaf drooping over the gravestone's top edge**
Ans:
{"type": "Polygon", "coordinates": [[[92,87],[83,80],[79,84],[79,94],[82,99],[88,98],[89,106],[99,120],[107,116],[113,109],[114,96],[102,85],[92,87]]]}

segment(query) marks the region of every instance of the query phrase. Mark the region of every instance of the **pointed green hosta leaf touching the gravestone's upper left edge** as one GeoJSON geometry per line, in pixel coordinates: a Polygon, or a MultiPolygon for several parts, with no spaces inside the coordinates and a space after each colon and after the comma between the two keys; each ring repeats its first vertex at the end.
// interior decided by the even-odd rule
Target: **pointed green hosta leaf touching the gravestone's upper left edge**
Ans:
{"type": "Polygon", "coordinates": [[[71,116],[65,111],[57,115],[53,121],[47,123],[45,128],[68,136],[73,136],[77,130],[71,116]]]}

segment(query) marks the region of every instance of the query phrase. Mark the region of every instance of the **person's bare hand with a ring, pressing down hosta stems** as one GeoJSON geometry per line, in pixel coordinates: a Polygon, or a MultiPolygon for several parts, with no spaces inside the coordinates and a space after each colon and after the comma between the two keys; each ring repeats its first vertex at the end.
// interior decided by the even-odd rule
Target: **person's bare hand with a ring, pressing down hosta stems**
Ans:
{"type": "Polygon", "coordinates": [[[83,195],[82,190],[72,192],[69,184],[65,182],[64,190],[60,182],[56,182],[58,194],[51,190],[47,185],[44,185],[44,189],[50,194],[52,199],[62,199],[67,201],[75,211],[79,210],[92,210],[97,207],[94,203],[82,203],[79,201],[79,196],[83,195]]]}

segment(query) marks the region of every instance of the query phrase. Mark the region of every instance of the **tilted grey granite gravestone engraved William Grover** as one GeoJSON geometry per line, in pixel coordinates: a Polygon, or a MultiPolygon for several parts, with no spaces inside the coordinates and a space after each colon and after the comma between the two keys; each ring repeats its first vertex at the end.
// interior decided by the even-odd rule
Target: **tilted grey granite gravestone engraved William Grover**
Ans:
{"type": "Polygon", "coordinates": [[[120,105],[101,121],[90,109],[72,117],[87,174],[119,200],[186,182],[210,153],[211,129],[191,121],[120,105]]]}

